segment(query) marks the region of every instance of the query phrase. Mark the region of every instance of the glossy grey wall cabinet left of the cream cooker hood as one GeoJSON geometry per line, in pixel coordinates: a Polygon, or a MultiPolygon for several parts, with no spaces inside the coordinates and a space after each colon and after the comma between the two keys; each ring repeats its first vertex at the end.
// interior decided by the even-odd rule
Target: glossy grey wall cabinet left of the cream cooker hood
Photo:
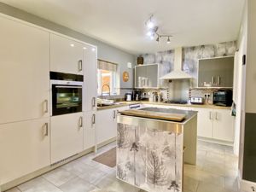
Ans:
{"type": "Polygon", "coordinates": [[[147,64],[135,67],[136,88],[161,88],[166,87],[166,81],[160,77],[164,75],[161,64],[147,64]]]}

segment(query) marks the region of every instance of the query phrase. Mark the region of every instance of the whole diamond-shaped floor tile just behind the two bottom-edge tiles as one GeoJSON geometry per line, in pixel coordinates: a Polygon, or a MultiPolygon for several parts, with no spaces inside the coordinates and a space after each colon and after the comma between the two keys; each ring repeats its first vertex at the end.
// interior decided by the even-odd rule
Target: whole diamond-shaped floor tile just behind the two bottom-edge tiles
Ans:
{"type": "Polygon", "coordinates": [[[60,167],[51,172],[47,172],[42,177],[59,187],[61,184],[67,183],[67,181],[76,177],[72,172],[67,172],[64,168],[60,167]]]}

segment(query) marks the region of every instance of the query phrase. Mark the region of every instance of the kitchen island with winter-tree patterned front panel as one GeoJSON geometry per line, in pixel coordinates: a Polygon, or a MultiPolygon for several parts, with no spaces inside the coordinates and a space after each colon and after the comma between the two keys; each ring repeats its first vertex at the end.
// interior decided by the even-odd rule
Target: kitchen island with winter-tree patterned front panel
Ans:
{"type": "Polygon", "coordinates": [[[146,191],[182,191],[183,162],[196,163],[197,113],[142,108],[118,115],[117,178],[146,191]]]}

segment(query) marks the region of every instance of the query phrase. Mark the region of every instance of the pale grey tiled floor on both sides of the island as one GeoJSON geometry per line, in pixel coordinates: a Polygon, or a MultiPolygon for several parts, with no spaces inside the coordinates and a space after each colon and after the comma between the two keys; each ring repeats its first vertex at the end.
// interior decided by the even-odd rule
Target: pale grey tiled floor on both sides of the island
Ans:
{"type": "MultiPolygon", "coordinates": [[[[113,148],[111,143],[8,192],[138,192],[115,179],[115,169],[92,160],[113,148]]],[[[197,166],[185,165],[183,192],[236,192],[237,158],[232,148],[198,142],[197,166]]]]}

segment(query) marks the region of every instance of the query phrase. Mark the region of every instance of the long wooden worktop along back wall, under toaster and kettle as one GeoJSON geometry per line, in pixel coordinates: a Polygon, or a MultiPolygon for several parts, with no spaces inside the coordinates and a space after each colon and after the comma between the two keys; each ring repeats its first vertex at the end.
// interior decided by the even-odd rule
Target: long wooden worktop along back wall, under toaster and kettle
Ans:
{"type": "Polygon", "coordinates": [[[164,102],[139,101],[139,102],[117,102],[117,104],[114,104],[114,105],[98,107],[97,110],[104,110],[109,108],[121,108],[121,107],[129,106],[131,104],[150,104],[150,105],[177,106],[177,107],[187,107],[187,108],[231,109],[231,107],[222,107],[222,106],[216,106],[216,105],[210,105],[210,104],[195,105],[195,104],[173,104],[173,103],[164,103],[164,102]]]}

